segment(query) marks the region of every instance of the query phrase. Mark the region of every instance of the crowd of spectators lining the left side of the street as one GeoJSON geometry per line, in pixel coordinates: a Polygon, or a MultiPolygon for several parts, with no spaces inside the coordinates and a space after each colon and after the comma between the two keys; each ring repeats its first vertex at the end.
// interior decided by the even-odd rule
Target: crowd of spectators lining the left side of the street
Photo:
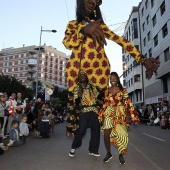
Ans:
{"type": "Polygon", "coordinates": [[[27,143],[27,137],[49,138],[54,133],[54,126],[62,123],[66,111],[61,104],[53,106],[43,102],[22,99],[20,92],[0,93],[0,154],[9,147],[27,143]]]}

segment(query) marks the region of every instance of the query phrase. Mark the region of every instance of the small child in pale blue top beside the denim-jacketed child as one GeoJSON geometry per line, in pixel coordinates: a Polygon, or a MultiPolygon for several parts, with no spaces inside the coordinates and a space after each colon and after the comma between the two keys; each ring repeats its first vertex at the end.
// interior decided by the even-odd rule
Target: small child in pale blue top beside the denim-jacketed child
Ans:
{"type": "Polygon", "coordinates": [[[21,123],[19,124],[19,130],[20,130],[20,139],[25,144],[27,136],[29,135],[29,129],[27,122],[27,116],[22,115],[21,116],[21,123]]]}

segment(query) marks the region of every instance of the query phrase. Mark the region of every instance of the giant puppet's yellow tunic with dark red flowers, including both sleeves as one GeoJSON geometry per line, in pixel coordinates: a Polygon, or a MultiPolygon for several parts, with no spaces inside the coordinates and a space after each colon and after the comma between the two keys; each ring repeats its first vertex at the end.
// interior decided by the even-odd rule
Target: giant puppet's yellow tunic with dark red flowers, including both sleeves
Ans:
{"type": "MultiPolygon", "coordinates": [[[[104,46],[100,46],[98,43],[95,46],[89,36],[84,39],[79,36],[79,31],[85,26],[85,22],[70,21],[63,39],[65,47],[72,50],[66,67],[69,91],[73,91],[76,86],[80,68],[87,72],[89,80],[99,89],[104,89],[108,86],[110,63],[105,54],[104,46]]],[[[105,38],[121,45],[137,62],[140,61],[142,55],[131,42],[116,35],[105,24],[101,24],[101,27],[105,38]]]]}

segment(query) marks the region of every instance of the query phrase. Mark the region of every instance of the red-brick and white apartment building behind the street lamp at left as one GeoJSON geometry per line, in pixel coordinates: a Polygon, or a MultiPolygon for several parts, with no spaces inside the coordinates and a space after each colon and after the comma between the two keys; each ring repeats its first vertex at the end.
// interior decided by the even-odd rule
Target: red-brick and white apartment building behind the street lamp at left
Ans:
{"type": "Polygon", "coordinates": [[[6,48],[0,51],[0,73],[14,76],[23,84],[28,85],[36,80],[37,63],[38,80],[46,86],[52,84],[66,87],[65,68],[68,57],[65,53],[51,46],[23,46],[6,48]]]}

